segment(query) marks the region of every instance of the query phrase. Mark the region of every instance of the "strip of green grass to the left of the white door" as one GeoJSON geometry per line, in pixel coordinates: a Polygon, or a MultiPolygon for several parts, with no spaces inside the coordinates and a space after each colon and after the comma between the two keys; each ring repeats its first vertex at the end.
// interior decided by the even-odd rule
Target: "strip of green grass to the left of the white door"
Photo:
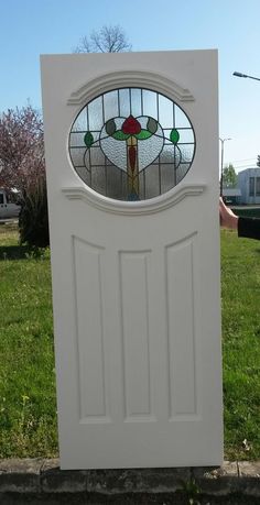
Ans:
{"type": "Polygon", "coordinates": [[[1,458],[57,454],[50,253],[34,255],[0,227],[1,458]]]}

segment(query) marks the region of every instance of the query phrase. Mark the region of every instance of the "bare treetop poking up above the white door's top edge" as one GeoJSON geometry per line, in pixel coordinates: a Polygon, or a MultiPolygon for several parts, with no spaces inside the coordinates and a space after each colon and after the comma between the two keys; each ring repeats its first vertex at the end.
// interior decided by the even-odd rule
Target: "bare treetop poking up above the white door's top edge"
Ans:
{"type": "Polygon", "coordinates": [[[131,44],[119,24],[115,26],[104,25],[98,31],[93,31],[89,35],[79,41],[75,53],[123,53],[131,51],[131,44]]]}

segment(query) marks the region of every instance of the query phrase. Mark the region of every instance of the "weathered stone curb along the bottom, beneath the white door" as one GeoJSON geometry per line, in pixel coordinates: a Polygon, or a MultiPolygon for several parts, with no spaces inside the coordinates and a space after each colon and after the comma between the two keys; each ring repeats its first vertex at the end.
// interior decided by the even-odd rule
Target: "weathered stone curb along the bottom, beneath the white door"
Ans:
{"type": "Polygon", "coordinates": [[[219,468],[61,470],[58,459],[41,458],[0,460],[0,503],[181,504],[188,503],[184,488],[193,480],[202,503],[260,503],[260,461],[225,461],[219,468]]]}

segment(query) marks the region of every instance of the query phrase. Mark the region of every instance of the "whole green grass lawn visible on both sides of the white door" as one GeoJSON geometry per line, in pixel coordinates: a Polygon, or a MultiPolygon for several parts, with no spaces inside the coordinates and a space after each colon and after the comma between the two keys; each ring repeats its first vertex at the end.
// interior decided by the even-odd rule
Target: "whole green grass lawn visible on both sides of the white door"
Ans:
{"type": "MultiPolygon", "coordinates": [[[[0,226],[0,458],[57,455],[48,251],[0,226]]],[[[221,231],[226,459],[260,458],[260,242],[221,231]],[[243,440],[247,442],[243,443],[243,440]]]]}

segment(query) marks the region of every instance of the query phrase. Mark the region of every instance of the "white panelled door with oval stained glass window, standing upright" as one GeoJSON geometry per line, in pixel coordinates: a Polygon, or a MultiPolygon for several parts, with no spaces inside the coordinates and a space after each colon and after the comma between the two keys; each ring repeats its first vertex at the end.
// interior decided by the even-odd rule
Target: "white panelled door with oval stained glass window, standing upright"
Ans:
{"type": "Polygon", "coordinates": [[[217,53],[42,57],[61,465],[223,460],[217,53]]]}

